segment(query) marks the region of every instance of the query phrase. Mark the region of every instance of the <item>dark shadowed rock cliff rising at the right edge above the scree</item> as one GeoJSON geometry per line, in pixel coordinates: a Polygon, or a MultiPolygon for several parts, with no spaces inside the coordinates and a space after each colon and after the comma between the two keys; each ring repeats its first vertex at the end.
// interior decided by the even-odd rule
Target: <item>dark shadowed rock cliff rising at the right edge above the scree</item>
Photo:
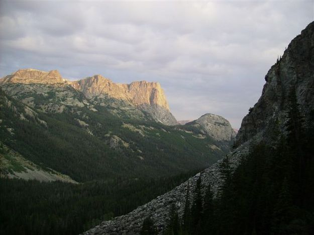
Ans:
{"type": "Polygon", "coordinates": [[[314,22],[295,37],[282,58],[265,76],[262,96],[244,117],[237,145],[270,128],[276,120],[283,128],[289,109],[289,93],[295,90],[301,113],[314,108],[314,22]]]}

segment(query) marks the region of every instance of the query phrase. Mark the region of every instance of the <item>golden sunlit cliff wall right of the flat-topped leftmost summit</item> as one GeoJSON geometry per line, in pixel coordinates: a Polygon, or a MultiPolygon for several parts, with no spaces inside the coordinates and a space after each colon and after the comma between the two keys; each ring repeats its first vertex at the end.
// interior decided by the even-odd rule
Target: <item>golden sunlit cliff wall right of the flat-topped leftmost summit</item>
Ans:
{"type": "Polygon", "coordinates": [[[123,100],[147,113],[156,122],[176,125],[177,122],[169,110],[169,105],[158,82],[136,81],[130,84],[114,83],[101,75],[70,82],[86,97],[97,99],[114,98],[123,100]]]}

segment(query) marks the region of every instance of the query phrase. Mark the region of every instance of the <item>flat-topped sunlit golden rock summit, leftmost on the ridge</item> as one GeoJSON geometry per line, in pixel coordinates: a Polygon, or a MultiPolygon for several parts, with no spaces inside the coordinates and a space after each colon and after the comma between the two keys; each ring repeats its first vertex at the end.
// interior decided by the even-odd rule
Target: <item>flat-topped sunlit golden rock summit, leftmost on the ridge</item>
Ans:
{"type": "Polygon", "coordinates": [[[15,73],[8,75],[2,79],[2,83],[41,83],[41,84],[55,84],[64,83],[58,70],[51,70],[49,72],[37,69],[20,69],[15,73]]]}

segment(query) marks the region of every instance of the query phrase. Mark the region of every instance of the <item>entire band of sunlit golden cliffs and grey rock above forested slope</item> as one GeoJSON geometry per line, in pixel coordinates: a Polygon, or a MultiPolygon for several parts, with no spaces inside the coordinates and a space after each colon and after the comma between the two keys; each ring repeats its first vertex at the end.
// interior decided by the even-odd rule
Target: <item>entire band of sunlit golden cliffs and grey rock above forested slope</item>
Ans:
{"type": "Polygon", "coordinates": [[[69,81],[57,70],[20,69],[2,78],[0,85],[9,95],[32,107],[38,104],[36,108],[44,112],[63,112],[67,106],[86,105],[94,110],[93,105],[99,104],[121,118],[177,124],[157,82],[119,84],[101,75],[69,81]],[[36,100],[37,96],[42,96],[41,100],[36,100]]]}

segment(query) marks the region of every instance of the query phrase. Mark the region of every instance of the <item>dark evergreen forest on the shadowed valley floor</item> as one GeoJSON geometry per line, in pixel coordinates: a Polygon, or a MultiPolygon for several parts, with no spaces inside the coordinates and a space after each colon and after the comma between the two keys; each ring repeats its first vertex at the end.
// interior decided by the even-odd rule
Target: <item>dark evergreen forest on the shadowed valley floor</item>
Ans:
{"type": "Polygon", "coordinates": [[[0,234],[79,234],[132,211],[195,173],[84,184],[0,179],[0,234]]]}

